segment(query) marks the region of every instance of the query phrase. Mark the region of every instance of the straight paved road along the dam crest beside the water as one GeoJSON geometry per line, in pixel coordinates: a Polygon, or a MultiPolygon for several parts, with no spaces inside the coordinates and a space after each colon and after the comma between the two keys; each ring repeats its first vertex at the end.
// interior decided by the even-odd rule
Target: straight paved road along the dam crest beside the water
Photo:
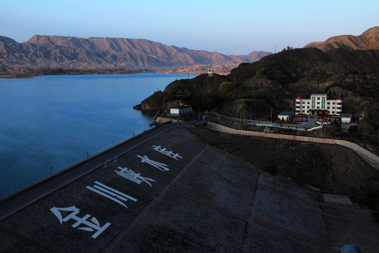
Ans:
{"type": "MultiPolygon", "coordinates": [[[[189,125],[189,124],[179,124],[179,126],[189,125]]],[[[136,136],[130,142],[127,142],[123,145],[120,145],[116,149],[101,155],[100,157],[94,158],[93,160],[78,166],[75,169],[62,173],[60,176],[55,177],[51,180],[45,180],[39,187],[32,188],[27,190],[18,196],[9,199],[3,199],[3,203],[0,204],[0,220],[7,217],[8,215],[16,212],[29,205],[30,203],[42,198],[43,196],[51,193],[52,191],[57,190],[60,187],[63,187],[67,183],[77,179],[78,177],[83,176],[84,174],[96,169],[97,167],[103,165],[104,163],[113,160],[114,158],[120,156],[121,154],[127,152],[130,149],[142,144],[143,142],[153,138],[154,136],[178,126],[174,123],[166,123],[159,127],[155,127],[150,130],[148,133],[145,133],[141,136],[136,136]]]]}

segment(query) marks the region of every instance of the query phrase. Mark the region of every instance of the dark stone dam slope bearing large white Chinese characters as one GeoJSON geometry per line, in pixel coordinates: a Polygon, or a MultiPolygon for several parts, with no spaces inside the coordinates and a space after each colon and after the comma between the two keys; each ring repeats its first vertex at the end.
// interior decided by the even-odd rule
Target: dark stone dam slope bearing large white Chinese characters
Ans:
{"type": "Polygon", "coordinates": [[[0,250],[333,252],[338,247],[330,224],[335,215],[355,211],[326,204],[314,191],[205,145],[189,131],[193,127],[146,138],[106,166],[2,218],[0,250]]]}

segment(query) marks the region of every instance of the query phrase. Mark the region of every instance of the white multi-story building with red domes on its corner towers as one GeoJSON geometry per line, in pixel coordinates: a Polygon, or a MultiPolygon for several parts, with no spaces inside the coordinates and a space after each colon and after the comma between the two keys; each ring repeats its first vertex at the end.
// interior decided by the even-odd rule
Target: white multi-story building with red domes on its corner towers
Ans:
{"type": "Polygon", "coordinates": [[[331,115],[339,115],[342,112],[341,97],[338,97],[336,100],[329,100],[325,92],[312,92],[310,99],[302,99],[300,96],[296,98],[295,114],[317,115],[322,111],[331,115]]]}

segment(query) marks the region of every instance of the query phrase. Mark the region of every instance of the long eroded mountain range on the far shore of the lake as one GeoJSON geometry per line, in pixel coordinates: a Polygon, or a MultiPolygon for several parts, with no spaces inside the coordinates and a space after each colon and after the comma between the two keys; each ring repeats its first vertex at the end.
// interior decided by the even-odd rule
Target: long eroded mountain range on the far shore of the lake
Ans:
{"type": "Polygon", "coordinates": [[[224,55],[144,39],[34,35],[27,42],[17,43],[0,36],[0,65],[12,67],[151,68],[164,72],[193,65],[220,65],[230,71],[241,62],[254,62],[269,54],[254,51],[224,55]]]}

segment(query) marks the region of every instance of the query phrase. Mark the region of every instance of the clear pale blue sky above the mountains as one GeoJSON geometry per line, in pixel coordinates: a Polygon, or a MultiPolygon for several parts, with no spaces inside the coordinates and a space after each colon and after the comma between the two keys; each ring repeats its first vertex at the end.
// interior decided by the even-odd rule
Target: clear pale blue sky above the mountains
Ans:
{"type": "Polygon", "coordinates": [[[379,25],[379,1],[12,0],[0,6],[0,35],[121,37],[246,55],[304,47],[379,25]]]}

